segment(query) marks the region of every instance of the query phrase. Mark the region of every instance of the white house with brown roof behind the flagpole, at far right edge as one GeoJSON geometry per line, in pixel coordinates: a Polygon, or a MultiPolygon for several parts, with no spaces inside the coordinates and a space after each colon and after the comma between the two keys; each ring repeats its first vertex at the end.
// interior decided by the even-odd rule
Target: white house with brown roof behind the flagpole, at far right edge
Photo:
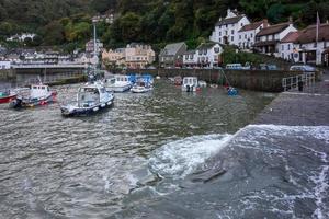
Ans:
{"type": "Polygon", "coordinates": [[[300,31],[295,41],[299,61],[304,64],[329,66],[329,23],[319,25],[318,42],[316,42],[316,25],[300,31]]]}

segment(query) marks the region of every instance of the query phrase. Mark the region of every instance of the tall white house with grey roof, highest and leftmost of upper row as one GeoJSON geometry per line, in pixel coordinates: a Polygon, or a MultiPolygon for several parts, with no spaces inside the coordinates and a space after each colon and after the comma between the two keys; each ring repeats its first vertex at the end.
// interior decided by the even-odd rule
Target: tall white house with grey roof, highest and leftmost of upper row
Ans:
{"type": "Polygon", "coordinates": [[[209,39],[219,44],[239,45],[239,34],[241,27],[250,24],[250,21],[245,14],[238,14],[238,12],[227,10],[225,19],[219,19],[216,23],[215,30],[209,39]]]}

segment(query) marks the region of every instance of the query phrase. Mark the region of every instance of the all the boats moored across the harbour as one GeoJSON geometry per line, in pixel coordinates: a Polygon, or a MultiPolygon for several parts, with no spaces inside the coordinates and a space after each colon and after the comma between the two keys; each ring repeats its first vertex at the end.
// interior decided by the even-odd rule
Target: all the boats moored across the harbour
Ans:
{"type": "MultiPolygon", "coordinates": [[[[205,81],[200,81],[196,77],[178,76],[169,80],[180,85],[184,92],[196,92],[207,85],[205,81]]],[[[81,85],[75,101],[60,105],[61,115],[90,115],[111,107],[116,92],[146,93],[151,90],[154,90],[154,78],[150,74],[109,74],[101,80],[81,85]]],[[[237,90],[231,88],[227,91],[228,95],[237,94],[237,90]]],[[[46,105],[56,102],[56,97],[57,92],[50,90],[47,84],[43,84],[41,80],[38,84],[32,84],[30,89],[0,92],[0,103],[9,103],[12,108],[46,105]]]]}

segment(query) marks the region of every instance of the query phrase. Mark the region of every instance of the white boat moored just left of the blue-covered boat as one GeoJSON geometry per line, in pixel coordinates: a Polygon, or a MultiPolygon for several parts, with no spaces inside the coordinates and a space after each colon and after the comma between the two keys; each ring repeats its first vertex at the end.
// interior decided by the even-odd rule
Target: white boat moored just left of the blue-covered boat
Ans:
{"type": "Polygon", "coordinates": [[[128,76],[112,74],[104,81],[106,91],[122,93],[128,91],[132,88],[132,82],[128,76]]]}

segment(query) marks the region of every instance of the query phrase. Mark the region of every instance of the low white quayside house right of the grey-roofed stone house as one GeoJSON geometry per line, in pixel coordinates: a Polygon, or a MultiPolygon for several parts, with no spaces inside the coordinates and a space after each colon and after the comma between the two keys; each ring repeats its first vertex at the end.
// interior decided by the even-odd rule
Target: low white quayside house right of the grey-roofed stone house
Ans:
{"type": "Polygon", "coordinates": [[[220,59],[222,53],[223,53],[223,47],[218,43],[201,44],[195,50],[197,66],[200,67],[219,66],[222,61],[220,59]]]}

